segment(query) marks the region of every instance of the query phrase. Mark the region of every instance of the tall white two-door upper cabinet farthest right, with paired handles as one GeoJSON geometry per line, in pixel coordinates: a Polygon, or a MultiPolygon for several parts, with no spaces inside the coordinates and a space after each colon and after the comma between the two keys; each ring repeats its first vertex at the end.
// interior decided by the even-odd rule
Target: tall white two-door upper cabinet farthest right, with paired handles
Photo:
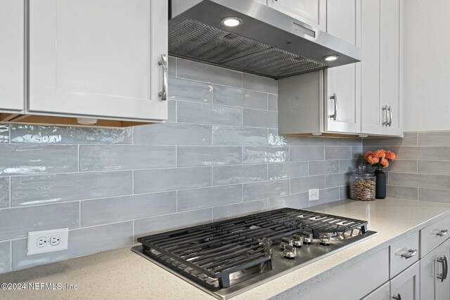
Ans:
{"type": "Polygon", "coordinates": [[[361,131],[402,136],[402,0],[361,7],[361,131]]]}

